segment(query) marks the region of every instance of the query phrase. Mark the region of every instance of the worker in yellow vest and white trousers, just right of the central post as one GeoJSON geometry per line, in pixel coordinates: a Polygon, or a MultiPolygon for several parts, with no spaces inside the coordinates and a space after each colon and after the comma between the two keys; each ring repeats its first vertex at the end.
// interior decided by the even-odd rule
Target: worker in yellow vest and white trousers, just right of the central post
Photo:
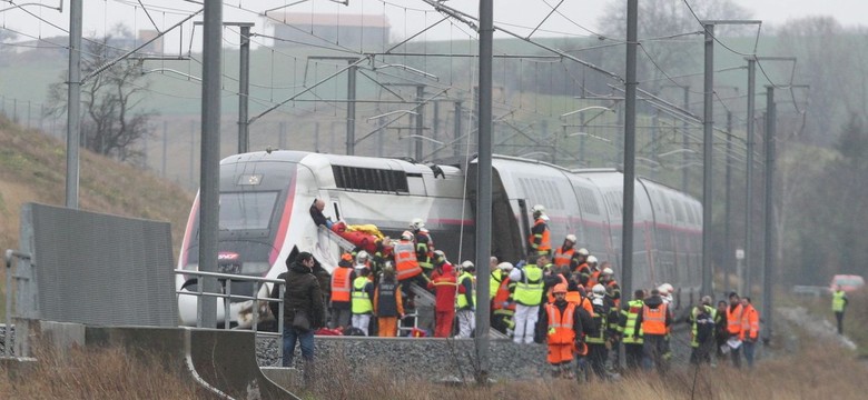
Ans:
{"type": "Polygon", "coordinates": [[[535,263],[514,268],[510,272],[510,286],[515,301],[513,341],[530,344],[533,342],[537,310],[543,298],[543,271],[535,263]]]}

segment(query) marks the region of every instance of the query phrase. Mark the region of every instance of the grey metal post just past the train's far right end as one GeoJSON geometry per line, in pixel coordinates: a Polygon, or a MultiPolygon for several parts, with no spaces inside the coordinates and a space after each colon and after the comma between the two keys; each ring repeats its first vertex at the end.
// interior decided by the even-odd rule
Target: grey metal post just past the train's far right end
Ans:
{"type": "Polygon", "coordinates": [[[706,29],[706,82],[704,113],[702,118],[702,294],[712,294],[711,287],[711,171],[713,147],[713,103],[714,91],[714,24],[703,23],[706,29]]]}

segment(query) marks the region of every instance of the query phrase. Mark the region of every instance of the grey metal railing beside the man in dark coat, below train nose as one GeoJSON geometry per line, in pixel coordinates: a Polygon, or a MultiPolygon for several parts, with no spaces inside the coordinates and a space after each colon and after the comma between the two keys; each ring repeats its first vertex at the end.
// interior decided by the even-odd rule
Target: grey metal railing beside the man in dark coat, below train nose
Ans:
{"type": "MultiPolygon", "coordinates": [[[[197,297],[197,309],[196,309],[196,327],[203,328],[201,326],[201,307],[203,302],[200,301],[205,297],[213,297],[216,299],[223,299],[223,308],[224,308],[224,329],[231,329],[231,313],[230,313],[230,306],[231,300],[250,300],[253,302],[251,304],[251,311],[253,311],[253,328],[251,330],[256,332],[257,336],[263,337],[274,337],[277,339],[283,338],[284,334],[284,292],[286,291],[285,288],[285,281],[283,279],[268,279],[268,278],[259,278],[259,277],[250,277],[250,276],[240,276],[240,274],[231,274],[231,273],[220,273],[220,272],[206,272],[206,271],[185,271],[185,270],[175,270],[176,274],[183,274],[183,276],[194,276],[198,280],[197,291],[189,291],[189,290],[176,290],[175,293],[180,296],[195,296],[197,297]],[[214,278],[221,281],[221,289],[220,292],[205,292],[204,291],[204,284],[203,278],[214,278]],[[236,282],[253,282],[254,296],[243,296],[243,294],[233,294],[233,281],[236,282]],[[272,297],[258,297],[259,290],[262,290],[262,287],[264,283],[273,283],[278,286],[278,298],[272,298],[272,297]],[[258,330],[259,324],[259,304],[258,301],[265,301],[265,302],[277,302],[277,309],[278,314],[275,316],[277,319],[277,332],[263,332],[258,330]]],[[[270,291],[268,293],[270,296],[270,291]]],[[[283,357],[283,346],[278,346],[280,349],[280,357],[283,357]]]]}

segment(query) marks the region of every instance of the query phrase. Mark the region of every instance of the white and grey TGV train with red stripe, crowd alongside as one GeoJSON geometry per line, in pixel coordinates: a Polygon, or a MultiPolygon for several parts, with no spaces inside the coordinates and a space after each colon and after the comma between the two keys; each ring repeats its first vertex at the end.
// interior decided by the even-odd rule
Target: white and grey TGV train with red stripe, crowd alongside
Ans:
{"type": "MultiPolygon", "coordinates": [[[[526,254],[531,208],[543,204],[552,246],[568,233],[619,272],[623,176],[613,169],[566,170],[514,157],[494,156],[492,252],[517,261],[526,254]]],[[[218,271],[275,278],[293,251],[309,251],[327,271],[339,248],[309,214],[315,199],[324,213],[347,224],[375,224],[397,238],[422,218],[437,249],[453,262],[474,259],[476,162],[422,164],[413,160],[262,151],[220,162],[218,271]]],[[[699,201],[644,179],[635,180],[633,288],[672,283],[693,298],[700,286],[702,211],[699,201]]],[[[198,198],[193,206],[178,269],[198,268],[198,198]]],[[[177,274],[178,289],[195,280],[177,274]]],[[[270,288],[264,287],[260,297],[270,288]]],[[[234,283],[235,294],[253,284],[234,283]]],[[[629,296],[625,293],[625,296],[629,296]]],[[[687,301],[687,298],[684,298],[687,301]]],[[[196,323],[196,297],[179,296],[181,323],[196,323]]],[[[251,324],[251,301],[230,307],[233,324],[251,324]]],[[[260,316],[269,316],[260,308],[260,316]]],[[[224,320],[218,307],[218,321],[224,320]]]]}

